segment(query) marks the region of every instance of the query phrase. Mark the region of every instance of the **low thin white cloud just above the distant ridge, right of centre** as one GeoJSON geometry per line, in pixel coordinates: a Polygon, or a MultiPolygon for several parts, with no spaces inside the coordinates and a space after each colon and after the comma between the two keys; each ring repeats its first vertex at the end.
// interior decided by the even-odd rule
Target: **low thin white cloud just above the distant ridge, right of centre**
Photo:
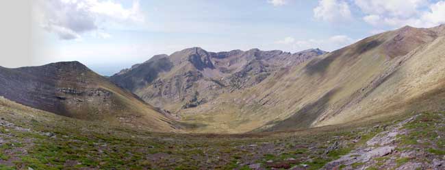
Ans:
{"type": "Polygon", "coordinates": [[[275,42],[276,44],[285,45],[285,49],[291,51],[301,51],[305,49],[319,48],[322,50],[333,51],[351,45],[356,42],[353,38],[344,35],[331,36],[326,39],[309,39],[309,40],[295,40],[292,37],[286,37],[283,40],[275,42]]]}

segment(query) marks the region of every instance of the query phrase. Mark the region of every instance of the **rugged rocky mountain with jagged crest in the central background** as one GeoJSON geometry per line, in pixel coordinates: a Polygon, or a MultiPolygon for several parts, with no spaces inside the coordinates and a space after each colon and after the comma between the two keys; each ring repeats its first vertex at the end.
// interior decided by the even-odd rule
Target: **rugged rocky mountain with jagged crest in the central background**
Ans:
{"type": "Polygon", "coordinates": [[[158,107],[173,112],[212,102],[223,93],[249,88],[266,77],[325,53],[310,49],[208,52],[199,47],[154,56],[110,77],[110,80],[158,107]]]}

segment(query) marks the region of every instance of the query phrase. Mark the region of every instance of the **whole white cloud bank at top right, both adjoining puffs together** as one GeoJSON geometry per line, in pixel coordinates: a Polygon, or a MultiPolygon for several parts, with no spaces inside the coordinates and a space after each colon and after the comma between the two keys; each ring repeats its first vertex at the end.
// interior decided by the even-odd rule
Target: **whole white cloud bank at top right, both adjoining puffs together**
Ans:
{"type": "Polygon", "coordinates": [[[354,18],[351,8],[357,9],[357,17],[379,29],[434,27],[445,23],[445,1],[429,0],[320,0],[314,8],[314,18],[320,21],[338,22],[354,18]]]}

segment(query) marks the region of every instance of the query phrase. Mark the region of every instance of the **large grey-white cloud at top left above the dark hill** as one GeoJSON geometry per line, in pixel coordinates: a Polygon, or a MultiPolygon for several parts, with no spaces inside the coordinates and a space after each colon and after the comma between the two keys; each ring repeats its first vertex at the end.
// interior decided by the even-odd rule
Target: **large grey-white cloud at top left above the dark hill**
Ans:
{"type": "MultiPolygon", "coordinates": [[[[138,1],[133,1],[131,8],[123,8],[111,0],[38,0],[33,12],[40,27],[62,40],[81,38],[81,34],[99,29],[103,23],[143,21],[138,1]]],[[[110,37],[110,34],[100,34],[110,37]]]]}

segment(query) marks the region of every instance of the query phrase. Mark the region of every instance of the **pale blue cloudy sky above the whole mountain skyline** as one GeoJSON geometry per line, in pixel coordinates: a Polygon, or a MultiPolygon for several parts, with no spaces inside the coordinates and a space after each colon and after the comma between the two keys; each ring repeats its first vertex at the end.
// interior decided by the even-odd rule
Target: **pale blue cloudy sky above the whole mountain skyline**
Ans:
{"type": "Polygon", "coordinates": [[[25,9],[29,52],[14,60],[26,62],[2,57],[1,66],[77,60],[102,75],[188,47],[334,51],[445,23],[445,0],[35,0],[25,9]]]}

